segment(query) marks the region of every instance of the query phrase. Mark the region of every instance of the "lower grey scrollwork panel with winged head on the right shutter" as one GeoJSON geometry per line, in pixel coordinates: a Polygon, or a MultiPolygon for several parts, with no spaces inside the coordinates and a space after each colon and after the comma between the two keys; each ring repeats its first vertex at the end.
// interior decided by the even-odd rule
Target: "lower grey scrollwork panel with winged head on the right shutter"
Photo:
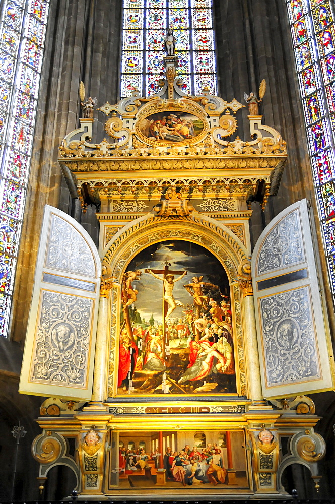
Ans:
{"type": "Polygon", "coordinates": [[[319,379],[309,288],[265,297],[260,306],[267,385],[319,379]]]}

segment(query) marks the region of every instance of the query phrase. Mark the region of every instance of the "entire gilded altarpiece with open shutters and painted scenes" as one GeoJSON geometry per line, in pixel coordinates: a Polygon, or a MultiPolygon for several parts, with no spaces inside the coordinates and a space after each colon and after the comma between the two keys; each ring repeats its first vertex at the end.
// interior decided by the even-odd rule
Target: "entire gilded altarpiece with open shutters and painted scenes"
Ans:
{"type": "Polygon", "coordinates": [[[293,463],[320,477],[325,446],[303,394],[332,389],[332,356],[306,203],[264,230],[251,263],[250,203],[276,195],[285,141],[261,115],[241,140],[241,103],[179,84],[105,103],[106,138],[92,143],[94,119],[81,119],[59,148],[83,211],[100,205],[99,313],[98,252],[90,258],[78,225],[55,211],[21,391],[49,397],[32,447],[39,477],[68,465],[83,499],[278,495],[293,463]]]}

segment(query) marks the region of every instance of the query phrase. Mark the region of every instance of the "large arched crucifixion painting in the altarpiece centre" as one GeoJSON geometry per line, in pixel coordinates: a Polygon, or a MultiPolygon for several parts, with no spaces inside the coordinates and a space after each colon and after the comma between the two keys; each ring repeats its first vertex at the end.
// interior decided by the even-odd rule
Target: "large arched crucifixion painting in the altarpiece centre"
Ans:
{"type": "Polygon", "coordinates": [[[151,245],[122,281],[118,394],[236,394],[229,282],[182,240],[151,245]]]}

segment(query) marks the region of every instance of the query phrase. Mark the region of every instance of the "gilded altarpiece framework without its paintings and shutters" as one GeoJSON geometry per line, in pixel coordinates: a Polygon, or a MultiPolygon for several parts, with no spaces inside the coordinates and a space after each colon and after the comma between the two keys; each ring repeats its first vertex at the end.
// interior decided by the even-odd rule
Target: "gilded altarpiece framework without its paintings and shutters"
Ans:
{"type": "MultiPolygon", "coordinates": [[[[173,58],[166,59],[171,74],[175,64],[173,58]]],[[[135,90],[131,97],[99,108],[107,116],[111,114],[105,123],[109,140],[92,143],[94,119],[84,118],[59,148],[62,172],[83,212],[88,205],[101,205],[97,218],[102,277],[92,394],[86,407],[84,401],[63,398],[62,391],[59,399],[50,397],[43,403],[38,420],[42,434],[32,447],[40,463],[39,478],[46,479],[52,467],[64,464],[76,473],[81,498],[127,498],[134,491],[114,484],[120,432],[243,431],[248,486],[234,489],[232,471],[224,494],[278,495],[284,493],[281,475],[290,464],[305,464],[315,481],[320,479],[315,462],[325,451],[322,438],[313,430],[318,417],[309,398],[298,396],[269,404],[261,388],[248,219],[251,202],[258,201],[264,209],[268,198],[277,194],[287,158],[286,143],[274,128],[262,124],[261,115],[248,116],[251,140],[238,136],[232,140],[237,128],[235,114],[243,107],[235,98],[227,102],[206,89],[201,96],[186,96],[173,78],[162,82],[161,91],[153,97],[140,97],[135,90]],[[163,112],[180,117],[184,112],[194,114],[203,122],[203,130],[195,138],[171,142],[140,131],[143,119],[163,112]],[[123,275],[140,251],[171,238],[203,246],[227,273],[235,395],[117,394],[123,275]],[[96,462],[90,459],[86,464],[81,443],[90,430],[98,433],[102,443],[96,462]],[[271,453],[257,444],[257,436],[264,430],[276,441],[271,453]],[[280,455],[281,436],[288,438],[285,457],[280,455]],[[69,437],[76,438],[74,457],[69,455],[69,437]],[[267,455],[271,457],[266,459],[267,455]]],[[[149,494],[161,495],[162,488],[164,478],[149,494]]],[[[200,492],[188,488],[187,498],[221,497],[223,488],[208,486],[200,492]]],[[[181,492],[165,489],[164,493],[186,498],[181,492]]]]}

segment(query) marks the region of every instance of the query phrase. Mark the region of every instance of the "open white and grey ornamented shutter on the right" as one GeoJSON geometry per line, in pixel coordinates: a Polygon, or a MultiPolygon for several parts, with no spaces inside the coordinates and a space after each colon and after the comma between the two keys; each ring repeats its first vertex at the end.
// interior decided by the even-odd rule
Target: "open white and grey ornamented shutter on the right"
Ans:
{"type": "Polygon", "coordinates": [[[252,257],[264,398],[333,388],[333,356],[322,309],[307,201],[281,212],[252,257]]]}

